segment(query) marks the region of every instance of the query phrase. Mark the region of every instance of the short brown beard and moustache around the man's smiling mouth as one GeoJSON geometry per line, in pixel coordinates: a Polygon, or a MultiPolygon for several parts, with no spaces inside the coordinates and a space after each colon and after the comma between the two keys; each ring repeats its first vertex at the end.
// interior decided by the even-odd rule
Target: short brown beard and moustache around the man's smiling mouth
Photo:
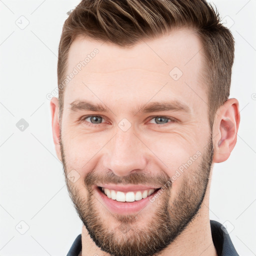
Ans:
{"type": "MultiPolygon", "coordinates": [[[[151,184],[161,187],[170,180],[169,177],[166,174],[152,177],[142,172],[120,177],[112,172],[102,171],[101,174],[96,174],[90,171],[84,177],[84,186],[82,186],[87,189],[87,197],[81,196],[79,194],[81,188],[78,189],[67,178],[64,148],[60,139],[63,170],[69,196],[94,243],[112,256],[157,255],[171,244],[194,219],[201,207],[208,186],[213,157],[211,136],[205,147],[198,166],[193,169],[190,166],[189,170],[186,170],[189,173],[183,173],[181,186],[172,202],[169,202],[171,182],[160,197],[151,202],[152,216],[145,227],[139,226],[138,221],[141,217],[143,218],[143,213],[112,214],[119,225],[114,231],[110,231],[109,222],[104,221],[103,211],[96,205],[97,199],[93,195],[95,191],[91,188],[92,185],[99,182],[103,184],[151,184]]],[[[98,205],[103,208],[102,204],[98,203],[98,205]]]]}

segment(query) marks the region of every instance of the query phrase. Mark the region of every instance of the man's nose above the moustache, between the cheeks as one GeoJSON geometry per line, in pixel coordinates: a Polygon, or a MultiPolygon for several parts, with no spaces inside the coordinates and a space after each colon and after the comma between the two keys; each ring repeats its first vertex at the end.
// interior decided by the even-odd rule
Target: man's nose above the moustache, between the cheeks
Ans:
{"type": "Polygon", "coordinates": [[[109,141],[104,167],[118,176],[145,169],[146,147],[137,136],[131,128],[127,131],[119,129],[109,141]]]}

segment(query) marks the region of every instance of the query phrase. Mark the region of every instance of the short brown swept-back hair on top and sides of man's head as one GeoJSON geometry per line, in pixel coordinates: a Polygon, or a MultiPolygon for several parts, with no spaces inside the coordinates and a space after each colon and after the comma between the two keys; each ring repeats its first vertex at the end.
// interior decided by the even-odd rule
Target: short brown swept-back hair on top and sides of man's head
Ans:
{"type": "MultiPolygon", "coordinates": [[[[173,28],[195,29],[202,43],[202,71],[208,95],[208,121],[229,97],[234,39],[220,22],[219,13],[206,0],[82,0],[64,22],[58,48],[57,78],[66,75],[69,47],[79,35],[132,47],[173,28]]],[[[65,86],[58,86],[59,117],[65,86]]]]}

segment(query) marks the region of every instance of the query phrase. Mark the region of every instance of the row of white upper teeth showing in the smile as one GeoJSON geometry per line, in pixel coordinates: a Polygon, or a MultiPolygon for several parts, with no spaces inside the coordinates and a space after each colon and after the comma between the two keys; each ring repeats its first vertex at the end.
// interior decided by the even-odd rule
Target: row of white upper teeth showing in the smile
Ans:
{"type": "Polygon", "coordinates": [[[146,198],[150,194],[152,194],[156,189],[147,189],[143,191],[136,191],[135,193],[133,191],[129,192],[121,192],[116,191],[113,189],[108,189],[105,187],[101,187],[102,191],[107,195],[108,198],[111,198],[113,200],[119,201],[119,202],[133,202],[141,200],[142,198],[146,198]]]}

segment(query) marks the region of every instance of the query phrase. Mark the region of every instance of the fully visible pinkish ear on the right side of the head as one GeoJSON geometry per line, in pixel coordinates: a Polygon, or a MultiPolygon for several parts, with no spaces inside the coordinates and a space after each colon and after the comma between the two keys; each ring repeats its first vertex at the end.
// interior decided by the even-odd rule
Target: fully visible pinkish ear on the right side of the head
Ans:
{"type": "Polygon", "coordinates": [[[227,99],[215,114],[213,124],[213,162],[225,161],[233,150],[240,123],[239,103],[236,98],[227,99]]]}

